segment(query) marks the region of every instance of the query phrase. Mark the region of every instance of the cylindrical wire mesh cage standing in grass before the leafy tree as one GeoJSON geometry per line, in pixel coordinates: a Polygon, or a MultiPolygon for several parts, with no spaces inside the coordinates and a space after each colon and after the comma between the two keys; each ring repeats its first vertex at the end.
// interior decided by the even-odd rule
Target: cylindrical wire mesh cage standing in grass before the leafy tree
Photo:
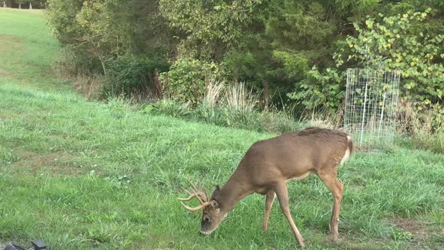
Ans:
{"type": "Polygon", "coordinates": [[[344,127],[361,150],[393,144],[400,74],[375,69],[348,69],[344,127]]]}

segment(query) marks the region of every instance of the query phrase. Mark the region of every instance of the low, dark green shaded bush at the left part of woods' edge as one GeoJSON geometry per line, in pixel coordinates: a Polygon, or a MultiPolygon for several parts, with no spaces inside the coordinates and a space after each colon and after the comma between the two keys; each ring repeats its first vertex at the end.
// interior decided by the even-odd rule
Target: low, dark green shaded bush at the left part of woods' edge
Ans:
{"type": "Polygon", "coordinates": [[[169,65],[157,58],[122,56],[108,63],[105,94],[123,95],[134,98],[151,97],[160,99],[162,87],[156,81],[156,72],[166,72],[169,65]]]}

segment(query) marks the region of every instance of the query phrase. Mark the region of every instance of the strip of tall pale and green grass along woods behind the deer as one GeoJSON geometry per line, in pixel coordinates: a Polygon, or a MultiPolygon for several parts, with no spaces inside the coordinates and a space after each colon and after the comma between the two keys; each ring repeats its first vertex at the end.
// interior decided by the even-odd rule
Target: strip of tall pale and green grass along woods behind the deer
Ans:
{"type": "Polygon", "coordinates": [[[259,132],[286,133],[303,127],[287,113],[273,108],[260,109],[259,94],[248,90],[244,83],[227,85],[214,79],[206,83],[205,95],[197,106],[162,99],[148,104],[142,111],[259,132]]]}

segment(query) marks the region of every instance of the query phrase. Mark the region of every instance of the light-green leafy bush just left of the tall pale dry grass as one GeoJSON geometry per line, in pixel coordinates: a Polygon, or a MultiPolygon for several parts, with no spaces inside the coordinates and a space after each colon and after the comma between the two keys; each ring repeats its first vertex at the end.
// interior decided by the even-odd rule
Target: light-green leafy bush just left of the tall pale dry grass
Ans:
{"type": "Polygon", "coordinates": [[[160,79],[174,99],[196,104],[203,99],[206,80],[220,76],[221,71],[215,63],[179,58],[171,65],[169,72],[160,75],[160,79]]]}

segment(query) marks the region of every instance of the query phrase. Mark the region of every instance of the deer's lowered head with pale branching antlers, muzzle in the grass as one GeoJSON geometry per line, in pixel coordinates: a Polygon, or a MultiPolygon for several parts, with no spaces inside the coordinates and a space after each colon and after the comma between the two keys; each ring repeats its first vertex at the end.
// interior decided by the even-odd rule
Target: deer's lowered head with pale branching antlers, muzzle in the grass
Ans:
{"type": "Polygon", "coordinates": [[[181,201],[189,201],[193,198],[198,199],[200,205],[196,206],[195,208],[186,206],[183,202],[181,203],[182,206],[184,206],[185,208],[187,208],[187,210],[190,211],[197,211],[202,209],[203,212],[202,212],[202,222],[200,222],[200,233],[202,235],[210,235],[210,233],[216,230],[219,224],[221,224],[223,218],[225,218],[225,216],[227,215],[227,213],[223,213],[221,211],[219,201],[217,201],[217,197],[219,196],[221,190],[219,189],[219,186],[216,186],[212,196],[210,197],[210,199],[208,199],[207,192],[203,190],[203,186],[200,183],[200,181],[199,184],[201,190],[198,190],[196,186],[193,183],[191,183],[191,181],[189,181],[189,183],[191,184],[191,189],[193,190],[193,192],[188,192],[187,190],[185,190],[185,192],[189,194],[189,197],[185,199],[181,198],[179,199],[181,201]]]}

